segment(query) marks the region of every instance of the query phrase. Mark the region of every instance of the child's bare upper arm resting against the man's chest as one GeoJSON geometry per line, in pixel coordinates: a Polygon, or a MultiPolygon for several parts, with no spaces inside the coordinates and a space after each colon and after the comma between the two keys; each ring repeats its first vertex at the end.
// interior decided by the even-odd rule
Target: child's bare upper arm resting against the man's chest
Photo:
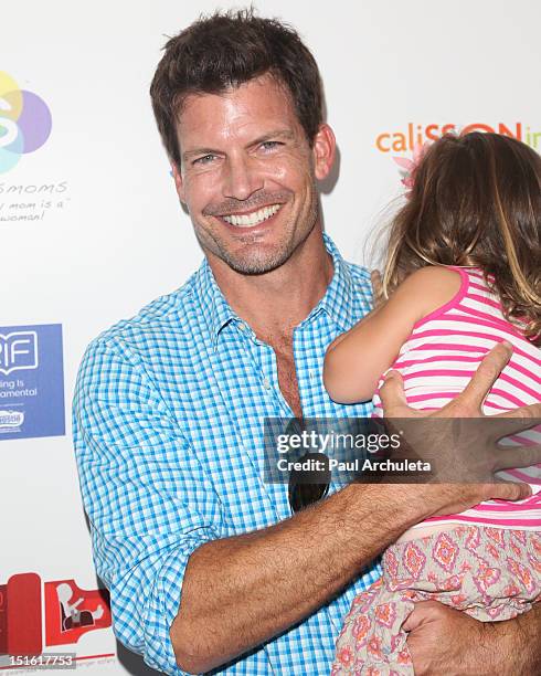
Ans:
{"type": "Polygon", "coordinates": [[[384,305],[330,344],[323,365],[329,397],[339,403],[372,399],[414,324],[448,303],[459,288],[460,276],[445,267],[411,274],[384,305]]]}

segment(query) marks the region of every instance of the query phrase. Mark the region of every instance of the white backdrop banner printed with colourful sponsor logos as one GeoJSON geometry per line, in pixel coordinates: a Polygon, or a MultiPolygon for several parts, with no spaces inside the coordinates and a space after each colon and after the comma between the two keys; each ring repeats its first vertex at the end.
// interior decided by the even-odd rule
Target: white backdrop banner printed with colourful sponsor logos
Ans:
{"type": "MultiPolygon", "coordinates": [[[[534,0],[256,7],[296,27],[319,63],[339,147],[325,225],[350,260],[374,264],[374,233],[403,200],[417,144],[480,129],[541,150],[534,0]]],[[[148,88],[167,38],[215,8],[2,4],[0,670],[30,672],[13,656],[46,652],[88,674],[156,673],[112,630],[70,410],[89,340],[200,264],[148,88]]]]}

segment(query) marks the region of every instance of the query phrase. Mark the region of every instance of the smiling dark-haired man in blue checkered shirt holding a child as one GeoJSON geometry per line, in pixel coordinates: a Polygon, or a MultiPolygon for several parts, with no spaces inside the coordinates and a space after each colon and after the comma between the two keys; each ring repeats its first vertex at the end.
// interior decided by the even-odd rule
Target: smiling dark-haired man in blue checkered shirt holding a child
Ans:
{"type": "MultiPolygon", "coordinates": [[[[388,545],[524,488],[351,485],[291,514],[288,487],[263,480],[265,416],[371,411],[346,412],[321,378],[371,287],[322,232],[335,137],[317,65],[288,27],[215,14],[168,42],[151,96],[205,257],[83,360],[74,436],[96,569],[118,638],[163,673],[323,675],[388,545]]],[[[481,369],[446,414],[475,414],[496,374],[481,369]]],[[[400,387],[383,399],[397,411],[400,387]]],[[[424,605],[410,619],[416,673],[533,673],[539,613],[499,624],[424,605]]]]}

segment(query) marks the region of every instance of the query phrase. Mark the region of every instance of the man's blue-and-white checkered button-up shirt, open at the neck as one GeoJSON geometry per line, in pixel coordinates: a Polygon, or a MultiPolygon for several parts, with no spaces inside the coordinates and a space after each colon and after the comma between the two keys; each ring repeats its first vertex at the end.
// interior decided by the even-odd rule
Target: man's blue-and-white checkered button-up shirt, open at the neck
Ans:
{"type": "MultiPolygon", "coordinates": [[[[327,346],[370,309],[370,276],[327,235],[325,243],[332,281],[294,332],[303,412],[365,416],[371,404],[333,403],[321,373],[327,346]]],[[[206,261],[88,347],[73,433],[94,561],[118,640],[153,668],[183,673],[169,629],[194,549],[291,515],[287,485],[264,482],[262,457],[264,418],[291,415],[274,350],[231,309],[206,261]]],[[[353,596],[379,575],[373,566],[329,605],[218,672],[328,674],[353,596]]]]}

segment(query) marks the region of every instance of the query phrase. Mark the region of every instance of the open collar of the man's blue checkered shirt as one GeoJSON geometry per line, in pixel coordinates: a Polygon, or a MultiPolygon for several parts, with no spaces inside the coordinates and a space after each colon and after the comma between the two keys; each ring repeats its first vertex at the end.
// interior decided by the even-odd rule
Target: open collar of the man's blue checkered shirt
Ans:
{"type": "MultiPolygon", "coordinates": [[[[323,233],[323,242],[327,251],[332,256],[335,272],[325,296],[301,325],[310,321],[320,311],[325,311],[341,331],[346,331],[351,328],[356,319],[354,281],[348,264],[342,258],[335,242],[326,233],[323,233]]],[[[204,258],[197,273],[195,294],[195,302],[201,305],[202,319],[206,324],[215,349],[218,337],[224,326],[232,320],[242,320],[225,300],[206,258],[204,258]]]]}

